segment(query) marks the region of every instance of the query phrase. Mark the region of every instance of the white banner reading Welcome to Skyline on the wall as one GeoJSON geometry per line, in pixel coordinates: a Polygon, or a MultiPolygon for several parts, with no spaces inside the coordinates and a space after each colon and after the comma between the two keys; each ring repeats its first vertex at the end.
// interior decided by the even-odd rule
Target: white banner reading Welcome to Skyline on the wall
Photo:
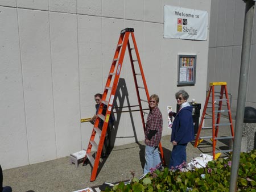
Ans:
{"type": "Polygon", "coordinates": [[[207,40],[208,12],[164,5],[164,38],[207,40]]]}

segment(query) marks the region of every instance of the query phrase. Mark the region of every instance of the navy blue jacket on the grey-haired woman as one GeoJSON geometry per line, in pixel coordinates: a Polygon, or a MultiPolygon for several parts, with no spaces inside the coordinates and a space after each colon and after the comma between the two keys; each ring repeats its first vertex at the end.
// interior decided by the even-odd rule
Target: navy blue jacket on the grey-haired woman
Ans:
{"type": "Polygon", "coordinates": [[[172,123],[171,142],[176,141],[179,145],[186,144],[195,139],[192,110],[193,107],[187,106],[181,108],[176,114],[172,123]]]}

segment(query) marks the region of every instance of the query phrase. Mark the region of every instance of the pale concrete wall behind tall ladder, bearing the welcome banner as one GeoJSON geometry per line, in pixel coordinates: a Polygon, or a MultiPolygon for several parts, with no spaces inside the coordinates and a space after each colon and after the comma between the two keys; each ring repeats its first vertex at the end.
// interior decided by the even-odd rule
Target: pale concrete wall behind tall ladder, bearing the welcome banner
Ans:
{"type": "MultiPolygon", "coordinates": [[[[208,40],[163,39],[163,6],[200,9],[210,0],[0,0],[0,163],[3,169],[69,156],[87,148],[94,112],[123,28],[134,28],[150,94],[167,106],[180,88],[203,103],[208,40]],[[177,87],[177,55],[197,55],[195,86],[177,87]]],[[[137,105],[129,60],[116,105],[137,105]]],[[[115,145],[144,139],[138,112],[115,114],[115,145]]]]}

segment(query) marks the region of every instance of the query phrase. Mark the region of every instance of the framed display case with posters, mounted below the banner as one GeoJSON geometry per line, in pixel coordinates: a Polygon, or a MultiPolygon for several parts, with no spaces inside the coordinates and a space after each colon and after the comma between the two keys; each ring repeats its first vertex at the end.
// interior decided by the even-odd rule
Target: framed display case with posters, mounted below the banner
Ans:
{"type": "Polygon", "coordinates": [[[195,85],[196,55],[179,55],[177,85],[195,85]]]}

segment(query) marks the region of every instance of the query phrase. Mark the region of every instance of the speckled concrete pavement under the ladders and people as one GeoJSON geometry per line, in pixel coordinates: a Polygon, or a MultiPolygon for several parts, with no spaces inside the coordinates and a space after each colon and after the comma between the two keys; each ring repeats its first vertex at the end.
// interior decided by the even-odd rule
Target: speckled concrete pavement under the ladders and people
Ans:
{"type": "MultiPolygon", "coordinates": [[[[223,118],[225,119],[225,118],[223,118]]],[[[227,119],[226,119],[227,120],[227,119]]],[[[203,131],[200,136],[210,136],[203,131]]],[[[222,127],[219,129],[218,136],[230,136],[230,128],[222,127]]],[[[168,165],[172,144],[170,135],[162,137],[162,147],[166,163],[168,165]]],[[[228,149],[228,141],[222,140],[217,142],[217,148],[228,149]]],[[[197,148],[193,143],[187,146],[187,162],[193,157],[199,157],[201,153],[212,155],[212,144],[205,141],[197,148]]],[[[223,154],[223,156],[226,156],[223,154]]],[[[144,166],[144,143],[132,143],[114,147],[109,157],[105,159],[98,169],[96,181],[90,182],[90,165],[76,168],[74,164],[69,164],[69,156],[59,158],[53,161],[42,162],[39,164],[22,166],[14,169],[3,171],[3,185],[9,185],[14,192],[71,192],[86,187],[102,185],[104,182],[126,181],[132,178],[131,171],[135,172],[135,177],[140,177],[143,173],[144,166]]]]}

